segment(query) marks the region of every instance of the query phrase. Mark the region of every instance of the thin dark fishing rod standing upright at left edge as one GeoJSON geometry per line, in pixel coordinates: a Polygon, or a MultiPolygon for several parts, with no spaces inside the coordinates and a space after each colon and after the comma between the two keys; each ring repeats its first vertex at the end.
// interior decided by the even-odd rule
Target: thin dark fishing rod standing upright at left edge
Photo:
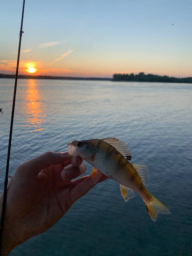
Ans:
{"type": "Polygon", "coordinates": [[[17,78],[18,78],[18,70],[19,70],[19,59],[20,59],[20,49],[21,49],[21,37],[23,29],[23,16],[24,16],[24,8],[25,8],[25,0],[23,0],[23,9],[22,9],[22,16],[21,16],[21,27],[20,27],[20,37],[19,37],[19,48],[18,48],[18,55],[17,55],[17,67],[16,67],[16,75],[15,75],[15,86],[14,86],[14,94],[13,94],[13,104],[12,104],[12,114],[11,114],[11,124],[10,124],[10,132],[9,132],[9,145],[8,145],[8,152],[7,152],[7,165],[6,165],[6,172],[5,172],[5,179],[4,179],[4,194],[3,194],[3,203],[2,203],[2,210],[1,210],[1,221],[0,221],[0,256],[2,250],[2,239],[3,239],[3,228],[4,228],[4,216],[5,216],[5,206],[6,206],[6,199],[7,199],[7,183],[8,183],[8,173],[9,173],[9,159],[10,159],[10,151],[11,151],[11,139],[12,139],[12,130],[13,130],[13,118],[14,118],[14,110],[15,110],[15,98],[16,98],[16,90],[17,90],[17,78]]]}

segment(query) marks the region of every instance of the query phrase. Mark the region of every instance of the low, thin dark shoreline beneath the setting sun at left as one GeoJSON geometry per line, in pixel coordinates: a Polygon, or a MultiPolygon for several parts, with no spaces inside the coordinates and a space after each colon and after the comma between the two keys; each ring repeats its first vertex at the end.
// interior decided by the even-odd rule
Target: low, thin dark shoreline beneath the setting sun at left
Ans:
{"type": "MultiPolygon", "coordinates": [[[[0,74],[0,78],[15,78],[15,75],[0,74]]],[[[71,76],[34,76],[34,75],[18,75],[23,79],[60,79],[60,80],[104,80],[111,81],[111,78],[99,77],[71,77],[71,76]]]]}

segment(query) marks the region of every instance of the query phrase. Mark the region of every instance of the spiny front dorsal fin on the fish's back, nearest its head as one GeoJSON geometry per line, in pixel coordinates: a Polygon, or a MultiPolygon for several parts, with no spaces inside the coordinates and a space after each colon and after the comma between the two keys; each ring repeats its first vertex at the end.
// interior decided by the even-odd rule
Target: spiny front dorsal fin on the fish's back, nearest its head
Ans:
{"type": "Polygon", "coordinates": [[[102,140],[116,148],[127,160],[131,161],[131,151],[124,142],[115,138],[104,138],[102,140]]]}

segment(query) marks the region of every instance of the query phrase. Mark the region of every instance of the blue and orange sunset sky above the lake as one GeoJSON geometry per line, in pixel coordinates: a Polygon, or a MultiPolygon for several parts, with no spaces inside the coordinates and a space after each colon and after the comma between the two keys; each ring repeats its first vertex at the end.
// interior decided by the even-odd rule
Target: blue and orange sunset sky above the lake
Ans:
{"type": "MultiPolygon", "coordinates": [[[[21,12],[1,0],[3,74],[15,74],[21,12]]],[[[192,76],[191,13],[191,0],[26,0],[19,74],[192,76]]]]}

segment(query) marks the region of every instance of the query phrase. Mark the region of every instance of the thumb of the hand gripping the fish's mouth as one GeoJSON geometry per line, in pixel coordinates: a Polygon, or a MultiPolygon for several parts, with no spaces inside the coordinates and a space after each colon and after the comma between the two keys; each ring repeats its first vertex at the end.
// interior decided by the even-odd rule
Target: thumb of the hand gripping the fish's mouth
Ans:
{"type": "Polygon", "coordinates": [[[55,164],[61,164],[68,160],[70,156],[66,152],[47,151],[40,156],[36,156],[30,160],[21,163],[17,167],[17,172],[25,172],[25,174],[37,175],[41,170],[55,164]]]}

